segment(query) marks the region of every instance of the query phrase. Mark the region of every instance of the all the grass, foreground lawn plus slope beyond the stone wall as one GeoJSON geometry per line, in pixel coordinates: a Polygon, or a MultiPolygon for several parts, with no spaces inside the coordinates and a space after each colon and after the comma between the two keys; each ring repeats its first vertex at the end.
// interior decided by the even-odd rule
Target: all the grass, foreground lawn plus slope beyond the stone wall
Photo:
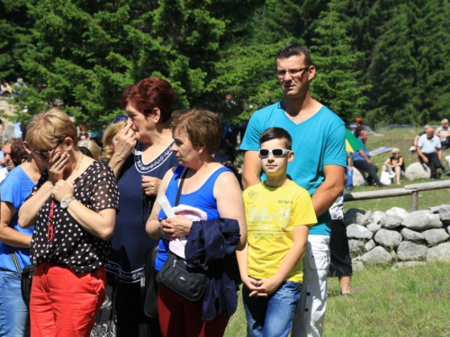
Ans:
{"type": "MultiPolygon", "coordinates": [[[[372,136],[370,150],[381,146],[399,147],[405,164],[418,161],[408,150],[420,129],[392,129],[383,137],[372,136]]],[[[391,153],[372,159],[381,170],[391,153]]],[[[450,151],[447,154],[450,155],[450,151]]],[[[444,163],[446,165],[446,163],[444,163]]],[[[441,177],[442,180],[449,179],[441,177]]],[[[406,184],[428,182],[403,180],[406,184]]],[[[374,187],[356,187],[354,191],[371,191],[374,187]]],[[[410,211],[410,197],[347,202],[348,208],[387,210],[394,206],[410,211]]],[[[419,194],[419,209],[450,204],[448,190],[424,191],[419,194]]],[[[353,297],[340,297],[338,279],[329,279],[325,337],[437,337],[450,335],[450,262],[433,262],[413,269],[392,270],[391,265],[370,267],[354,273],[353,297]]],[[[246,336],[246,317],[239,292],[238,312],[230,318],[228,337],[246,336]]]]}

